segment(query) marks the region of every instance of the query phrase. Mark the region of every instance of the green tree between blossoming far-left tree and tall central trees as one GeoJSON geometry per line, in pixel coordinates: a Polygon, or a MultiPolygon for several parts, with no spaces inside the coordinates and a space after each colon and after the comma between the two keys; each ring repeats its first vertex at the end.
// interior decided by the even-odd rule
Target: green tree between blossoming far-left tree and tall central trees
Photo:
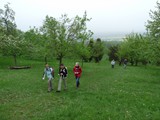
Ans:
{"type": "Polygon", "coordinates": [[[26,57],[30,59],[44,58],[47,63],[47,56],[50,56],[50,52],[46,49],[48,45],[46,36],[34,27],[24,33],[24,39],[29,46],[26,57]]]}

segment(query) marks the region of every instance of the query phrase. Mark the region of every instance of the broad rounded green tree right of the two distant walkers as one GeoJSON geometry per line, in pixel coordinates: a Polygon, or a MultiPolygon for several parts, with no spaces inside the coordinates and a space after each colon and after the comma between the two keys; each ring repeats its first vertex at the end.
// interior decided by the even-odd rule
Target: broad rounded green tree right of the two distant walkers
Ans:
{"type": "Polygon", "coordinates": [[[120,44],[118,55],[119,59],[128,59],[132,65],[138,65],[138,62],[147,63],[149,58],[149,41],[147,36],[131,33],[127,35],[120,44]]]}

